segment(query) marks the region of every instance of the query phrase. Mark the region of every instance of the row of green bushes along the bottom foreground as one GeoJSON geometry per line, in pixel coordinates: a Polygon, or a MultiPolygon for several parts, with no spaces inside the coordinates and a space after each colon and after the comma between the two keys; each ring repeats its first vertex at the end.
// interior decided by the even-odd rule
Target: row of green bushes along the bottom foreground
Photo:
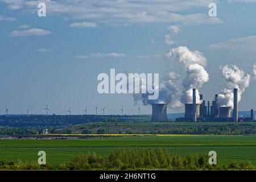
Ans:
{"type": "Polygon", "coordinates": [[[147,169],[170,169],[170,170],[223,170],[223,169],[255,169],[249,162],[239,165],[236,162],[227,166],[209,165],[209,156],[200,154],[196,156],[172,155],[163,148],[148,149],[126,149],[114,150],[105,156],[98,156],[95,152],[84,155],[77,155],[73,160],[59,165],[46,164],[39,166],[36,163],[0,161],[0,169],[13,170],[147,170],[147,169]]]}

